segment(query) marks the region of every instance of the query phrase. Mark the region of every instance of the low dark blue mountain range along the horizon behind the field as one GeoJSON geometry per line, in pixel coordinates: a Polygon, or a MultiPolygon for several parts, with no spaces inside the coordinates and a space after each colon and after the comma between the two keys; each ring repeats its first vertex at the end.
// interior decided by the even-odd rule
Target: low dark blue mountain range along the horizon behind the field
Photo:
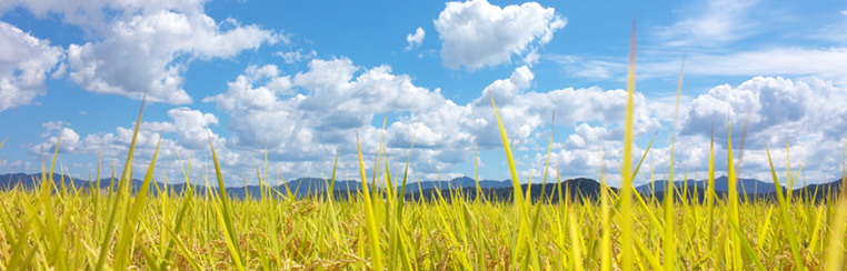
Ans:
{"type": "MultiPolygon", "coordinates": [[[[53,183],[54,187],[61,188],[62,187],[62,180],[64,182],[64,187],[73,187],[78,190],[90,190],[91,184],[88,180],[79,180],[79,179],[72,179],[70,177],[63,177],[60,174],[53,174],[53,183]]],[[[756,198],[768,198],[773,197],[775,193],[774,183],[763,182],[755,179],[739,179],[738,180],[738,192],[741,194],[751,194],[756,198]]],[[[111,185],[112,179],[106,178],[100,180],[100,187],[98,189],[100,190],[107,190],[111,185]]],[[[117,182],[117,180],[114,181],[117,182]]],[[[0,174],[0,191],[8,190],[14,187],[20,187],[23,189],[32,189],[38,188],[41,183],[41,174],[26,174],[26,173],[13,173],[13,174],[0,174]]],[[[97,182],[94,182],[96,185],[97,182]]],[[[131,182],[131,191],[136,192],[141,188],[141,184],[143,182],[138,179],[133,179],[131,182]]],[[[395,183],[398,184],[398,183],[395,183]]],[[[477,197],[477,189],[476,189],[476,181],[474,179],[468,177],[460,177],[456,178],[449,181],[421,181],[418,182],[407,182],[406,185],[406,198],[407,199],[419,199],[420,197],[432,199],[434,197],[437,197],[437,193],[440,191],[442,197],[450,198],[452,193],[462,193],[465,197],[475,199],[477,197]]],[[[532,184],[528,187],[527,184],[522,184],[521,189],[524,192],[526,192],[527,189],[530,190],[531,198],[534,200],[537,200],[541,197],[552,197],[554,201],[557,201],[557,185],[556,183],[548,183],[546,187],[544,187],[544,190],[541,190],[541,184],[532,184]]],[[[659,193],[661,191],[665,191],[665,182],[664,181],[656,181],[654,183],[655,185],[651,185],[651,183],[641,184],[636,187],[636,191],[649,195],[651,193],[656,193],[657,199],[661,199],[664,193],[659,193]]],[[[676,181],[674,182],[674,185],[677,189],[682,189],[684,185],[688,185],[689,191],[697,190],[700,198],[702,198],[702,194],[705,194],[702,191],[707,189],[707,183],[704,180],[694,181],[689,180],[687,183],[682,181],[676,181]]],[[[825,199],[826,193],[828,191],[838,191],[840,189],[841,180],[837,179],[833,182],[827,183],[818,183],[818,184],[809,184],[805,188],[793,190],[794,194],[800,194],[805,193],[808,197],[811,194],[815,194],[815,191],[818,191],[817,194],[815,194],[816,200],[825,199]]],[[[117,184],[116,184],[117,185],[117,184]]],[[[160,189],[163,189],[162,183],[156,183],[160,189]]],[[[288,190],[291,191],[292,194],[296,197],[303,197],[307,194],[325,194],[327,190],[329,190],[329,180],[320,179],[320,178],[299,178],[292,181],[288,181],[286,183],[275,183],[272,187],[273,190],[278,191],[280,194],[286,195],[288,193],[288,190]],[[286,187],[287,185],[287,187],[286,187]],[[288,189],[288,190],[287,190],[288,189]]],[[[398,184],[399,185],[399,184],[398,184]]],[[[170,184],[168,185],[168,189],[173,193],[182,193],[186,191],[189,187],[192,187],[192,184],[187,183],[180,183],[180,184],[170,184]]],[[[492,180],[482,180],[479,182],[479,187],[482,189],[481,192],[486,194],[489,199],[500,199],[500,200],[508,200],[511,199],[514,195],[512,192],[512,184],[511,180],[504,180],[504,181],[492,181],[492,180]]],[[[718,194],[718,197],[724,197],[726,192],[729,191],[728,189],[728,178],[720,177],[715,179],[715,191],[718,194]]],[[[193,185],[193,190],[199,193],[203,194],[207,191],[207,188],[203,185],[193,185]]],[[[595,198],[599,194],[600,191],[600,183],[587,178],[577,178],[577,179],[569,179],[562,182],[562,189],[569,188],[569,192],[571,197],[576,195],[585,195],[588,198],[595,198]]],[[[116,188],[117,189],[117,188],[116,188]]],[[[211,188],[213,191],[217,192],[217,188],[211,188]]],[[[333,194],[338,197],[347,197],[348,191],[353,192],[361,189],[361,182],[353,181],[353,180],[341,180],[336,181],[332,190],[333,194]]],[[[615,189],[615,188],[612,188],[615,189]]],[[[785,188],[784,188],[785,189],[785,188]]],[[[250,197],[259,197],[261,191],[261,188],[259,185],[247,185],[247,187],[233,187],[233,188],[227,188],[227,193],[232,198],[238,199],[245,199],[248,194],[250,197]]],[[[153,188],[150,190],[152,194],[157,193],[157,190],[153,188]]],[[[399,192],[399,188],[398,188],[399,192]]],[[[700,199],[702,200],[702,199],[700,199]]]]}

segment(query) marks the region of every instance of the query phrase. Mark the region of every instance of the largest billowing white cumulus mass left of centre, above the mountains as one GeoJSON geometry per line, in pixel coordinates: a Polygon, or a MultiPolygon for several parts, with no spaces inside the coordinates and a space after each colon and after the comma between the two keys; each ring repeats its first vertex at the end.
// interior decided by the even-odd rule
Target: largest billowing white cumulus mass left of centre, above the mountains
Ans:
{"type": "Polygon", "coordinates": [[[424,173],[449,172],[472,148],[472,136],[462,128],[470,106],[455,104],[438,89],[416,87],[388,66],[366,69],[343,58],[311,60],[296,74],[282,74],[272,64],[251,66],[227,92],[203,101],[230,114],[231,148],[258,154],[267,143],[275,167],[296,169],[296,174],[331,169],[337,150],[341,168],[358,167],[357,134],[366,155],[376,154],[383,132],[372,123],[386,112],[400,114],[385,131],[392,165],[402,162],[412,138],[412,159],[424,173]],[[275,83],[280,81],[285,83],[275,83]]]}

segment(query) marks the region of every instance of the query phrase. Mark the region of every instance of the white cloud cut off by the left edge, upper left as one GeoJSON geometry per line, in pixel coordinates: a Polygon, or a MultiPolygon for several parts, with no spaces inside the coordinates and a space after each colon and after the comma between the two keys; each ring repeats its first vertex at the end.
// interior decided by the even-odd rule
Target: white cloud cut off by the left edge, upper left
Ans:
{"type": "Polygon", "coordinates": [[[47,74],[64,58],[59,47],[0,21],[0,112],[47,92],[47,74]]]}

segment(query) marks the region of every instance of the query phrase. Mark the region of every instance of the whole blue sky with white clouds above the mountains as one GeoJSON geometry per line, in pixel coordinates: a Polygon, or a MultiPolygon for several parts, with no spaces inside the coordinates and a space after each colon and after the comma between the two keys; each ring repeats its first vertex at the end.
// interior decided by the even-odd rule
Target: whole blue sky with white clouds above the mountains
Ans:
{"type": "Polygon", "coordinates": [[[634,17],[636,153],[657,134],[657,178],[682,56],[678,171],[702,175],[713,127],[726,170],[728,119],[736,149],[749,124],[741,175],[769,180],[765,144],[784,170],[786,143],[806,181],[840,175],[847,3],[725,0],[3,1],[0,171],[40,171],[59,134],[72,175],[96,170],[99,145],[122,167],[147,91],[134,168],[161,136],[158,179],[181,180],[189,157],[199,177],[209,137],[232,185],[255,174],[266,142],[272,174],[328,175],[338,150],[353,178],[357,133],[371,161],[385,133],[395,172],[413,137],[421,179],[472,177],[476,142],[480,178],[502,180],[491,94],[522,181],[542,174],[554,128],[562,178],[597,178],[602,164],[616,183],[634,17]]]}

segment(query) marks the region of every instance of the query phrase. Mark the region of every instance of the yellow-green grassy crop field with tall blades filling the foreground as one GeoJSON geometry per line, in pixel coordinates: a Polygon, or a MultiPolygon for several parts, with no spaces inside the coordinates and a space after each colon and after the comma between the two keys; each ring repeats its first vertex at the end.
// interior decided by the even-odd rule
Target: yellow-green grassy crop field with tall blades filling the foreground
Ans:
{"type": "MultiPolygon", "coordinates": [[[[634,157],[631,59],[629,69],[625,159],[634,157]]],[[[136,133],[140,120],[141,114],[136,133]]],[[[730,188],[737,182],[728,140],[727,158],[713,151],[702,202],[685,200],[700,190],[672,185],[661,201],[635,192],[637,159],[621,163],[619,190],[605,187],[598,169],[599,197],[570,197],[562,191],[567,183],[540,178],[528,181],[555,185],[557,193],[534,201],[520,189],[501,123],[500,132],[515,188],[508,201],[457,193],[407,201],[405,187],[413,182],[406,174],[408,162],[389,169],[385,157],[363,158],[361,150],[357,175],[367,185],[343,200],[273,190],[279,180],[261,168],[252,181],[262,192],[231,199],[217,157],[215,174],[189,175],[187,163],[181,177],[205,184],[205,191],[179,193],[153,180],[156,157],[136,192],[128,184],[130,167],[112,173],[114,189],[87,191],[50,180],[53,162],[42,169],[50,181],[0,192],[0,270],[845,269],[847,198],[837,197],[844,187],[815,191],[828,200],[813,201],[781,189],[791,187],[799,170],[771,167],[775,199],[745,200],[735,189],[719,198],[716,163],[728,165],[730,188]],[[375,170],[366,172],[370,160],[375,170]]],[[[126,164],[132,163],[133,148],[134,139],[126,164]]],[[[53,161],[57,153],[58,147],[53,161]]],[[[92,180],[100,180],[97,172],[92,180]]],[[[672,171],[669,175],[675,180],[672,171]]]]}

